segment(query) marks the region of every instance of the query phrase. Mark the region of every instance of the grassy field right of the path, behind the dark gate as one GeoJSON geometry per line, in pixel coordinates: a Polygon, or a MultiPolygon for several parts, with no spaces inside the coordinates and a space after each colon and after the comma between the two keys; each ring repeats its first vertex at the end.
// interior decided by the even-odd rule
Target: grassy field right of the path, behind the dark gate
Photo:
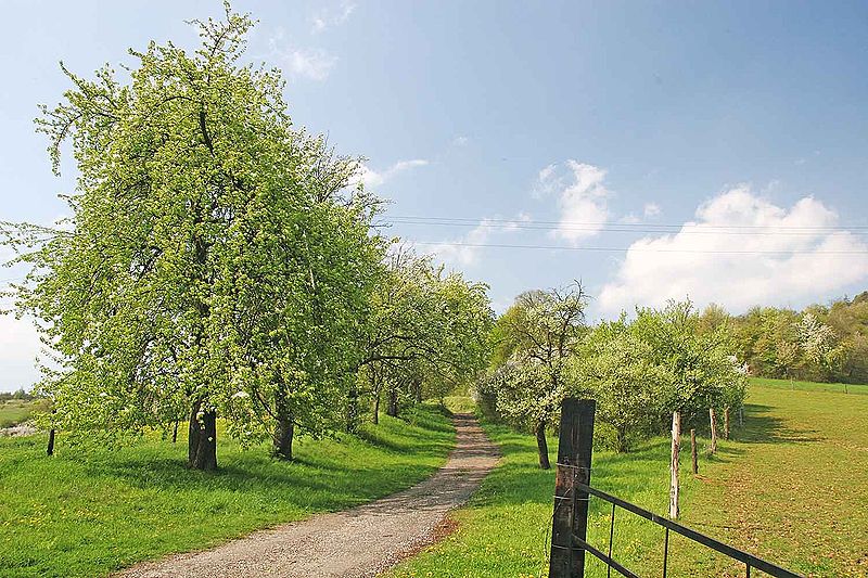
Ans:
{"type": "MultiPolygon", "coordinates": [[[[682,453],[682,522],[808,576],[865,576],[868,397],[803,389],[808,385],[754,383],[744,427],[720,442],[716,457],[702,452],[699,476],[682,453]]],[[[535,467],[529,436],[492,424],[486,429],[505,453],[502,465],[455,514],[459,529],[393,577],[546,576],[553,473],[535,467]]],[[[550,444],[554,454],[556,440],[550,444]]],[[[701,449],[706,444],[701,439],[701,449]]],[[[593,485],[665,513],[668,450],[668,440],[659,438],[628,454],[597,452],[593,485]]],[[[611,510],[590,503],[589,541],[605,549],[611,510]]],[[[623,511],[616,516],[616,560],[640,575],[659,575],[662,529],[623,511]]],[[[743,567],[684,539],[671,548],[673,576],[743,576],[743,567]]],[[[589,570],[605,576],[596,560],[589,570]]]]}

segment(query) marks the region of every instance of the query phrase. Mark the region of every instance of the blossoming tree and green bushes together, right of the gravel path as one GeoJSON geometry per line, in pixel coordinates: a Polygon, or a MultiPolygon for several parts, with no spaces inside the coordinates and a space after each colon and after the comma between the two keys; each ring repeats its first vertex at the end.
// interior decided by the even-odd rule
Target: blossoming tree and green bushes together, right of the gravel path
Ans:
{"type": "Polygon", "coordinates": [[[565,397],[597,400],[600,431],[617,451],[663,433],[673,413],[690,424],[742,406],[746,376],[730,334],[724,325],[702,331],[689,301],[596,327],[585,323],[586,305],[578,285],[520,295],[497,322],[492,365],[477,386],[484,406],[536,434],[541,467],[549,467],[546,428],[565,397]]]}

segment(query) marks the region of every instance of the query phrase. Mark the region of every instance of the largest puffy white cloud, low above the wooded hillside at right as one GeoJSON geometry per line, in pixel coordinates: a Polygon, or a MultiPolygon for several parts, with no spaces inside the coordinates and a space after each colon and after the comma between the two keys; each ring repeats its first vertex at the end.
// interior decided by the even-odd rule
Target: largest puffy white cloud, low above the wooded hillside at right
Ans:
{"type": "Polygon", "coordinates": [[[817,299],[868,278],[868,245],[814,197],[784,208],[741,185],[701,205],[695,217],[677,233],[633,243],[600,293],[600,309],[689,296],[743,311],[817,299]]]}

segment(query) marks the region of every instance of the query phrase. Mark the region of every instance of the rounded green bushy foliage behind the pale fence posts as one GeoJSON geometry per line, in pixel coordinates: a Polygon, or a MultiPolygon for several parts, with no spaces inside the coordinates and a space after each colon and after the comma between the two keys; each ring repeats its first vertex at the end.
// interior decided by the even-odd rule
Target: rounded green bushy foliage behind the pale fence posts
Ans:
{"type": "Polygon", "coordinates": [[[703,333],[705,319],[689,301],[673,301],[640,309],[634,321],[602,323],[583,341],[572,359],[573,395],[597,400],[614,449],[663,432],[675,411],[689,422],[709,408],[741,406],[746,377],[733,363],[727,325],[703,333]]]}

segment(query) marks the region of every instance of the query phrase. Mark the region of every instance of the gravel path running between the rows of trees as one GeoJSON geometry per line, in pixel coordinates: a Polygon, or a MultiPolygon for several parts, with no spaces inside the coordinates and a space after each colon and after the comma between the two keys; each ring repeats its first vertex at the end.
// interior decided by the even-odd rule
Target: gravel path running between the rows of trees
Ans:
{"type": "Polygon", "coordinates": [[[214,550],[140,564],[119,576],[376,576],[434,540],[446,513],[465,502],[497,463],[497,448],[472,415],[456,415],[455,425],[456,448],[446,465],[408,490],[257,531],[214,550]]]}

